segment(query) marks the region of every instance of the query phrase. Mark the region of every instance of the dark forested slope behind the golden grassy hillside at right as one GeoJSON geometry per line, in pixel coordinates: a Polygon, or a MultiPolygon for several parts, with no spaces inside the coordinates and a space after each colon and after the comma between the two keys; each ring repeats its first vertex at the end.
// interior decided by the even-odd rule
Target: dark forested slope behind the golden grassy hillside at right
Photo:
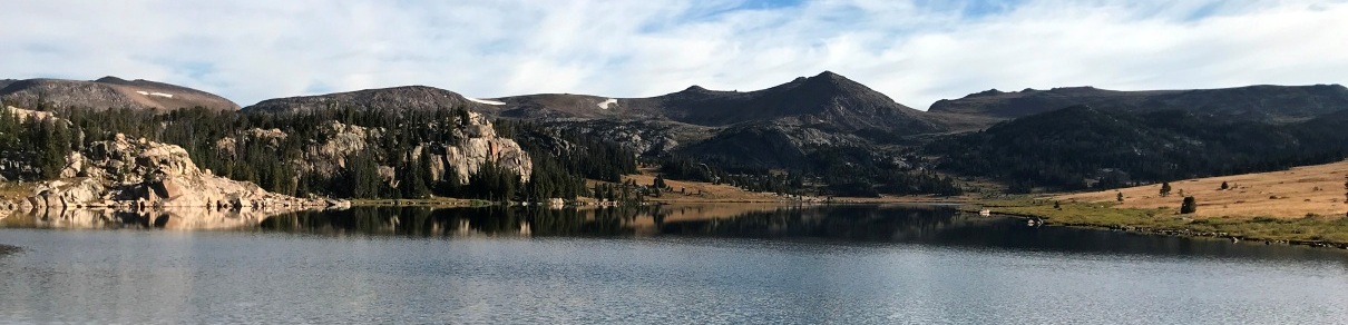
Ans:
{"type": "Polygon", "coordinates": [[[1184,111],[1073,107],[954,135],[925,147],[948,173],[1034,187],[1111,189],[1340,160],[1343,113],[1294,124],[1224,121],[1184,111]]]}

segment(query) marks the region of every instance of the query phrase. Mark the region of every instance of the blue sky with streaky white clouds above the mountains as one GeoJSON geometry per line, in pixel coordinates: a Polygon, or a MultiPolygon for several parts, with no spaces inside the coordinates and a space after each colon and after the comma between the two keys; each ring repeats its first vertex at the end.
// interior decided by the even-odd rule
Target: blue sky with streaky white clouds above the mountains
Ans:
{"type": "Polygon", "coordinates": [[[754,90],[825,70],[926,109],[987,89],[1348,84],[1348,0],[0,0],[0,78],[116,76],[240,105],[754,90]]]}

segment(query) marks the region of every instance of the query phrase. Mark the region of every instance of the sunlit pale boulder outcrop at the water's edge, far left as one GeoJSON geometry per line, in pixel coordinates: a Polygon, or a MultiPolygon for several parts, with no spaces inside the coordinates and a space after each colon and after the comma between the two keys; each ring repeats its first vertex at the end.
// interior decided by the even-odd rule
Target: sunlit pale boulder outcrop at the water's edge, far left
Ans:
{"type": "Polygon", "coordinates": [[[187,151],[173,144],[129,140],[123,135],[94,142],[67,156],[62,181],[39,183],[32,208],[288,208],[326,206],[202,171],[187,151]]]}

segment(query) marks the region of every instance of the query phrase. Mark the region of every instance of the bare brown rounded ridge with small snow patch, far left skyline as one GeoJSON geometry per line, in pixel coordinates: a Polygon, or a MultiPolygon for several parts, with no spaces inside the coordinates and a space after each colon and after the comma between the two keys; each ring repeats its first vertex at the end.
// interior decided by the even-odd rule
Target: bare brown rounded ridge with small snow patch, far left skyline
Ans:
{"type": "Polygon", "coordinates": [[[0,88],[0,100],[15,105],[78,107],[90,109],[136,108],[173,111],[204,107],[218,111],[239,111],[239,104],[224,97],[170,84],[116,77],[96,81],[75,80],[20,80],[0,88]]]}

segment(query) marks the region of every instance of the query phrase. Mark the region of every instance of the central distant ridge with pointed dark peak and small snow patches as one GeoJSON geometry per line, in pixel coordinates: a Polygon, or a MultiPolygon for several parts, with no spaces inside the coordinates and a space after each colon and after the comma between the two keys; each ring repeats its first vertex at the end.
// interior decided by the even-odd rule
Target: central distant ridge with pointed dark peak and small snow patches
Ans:
{"type": "Polygon", "coordinates": [[[743,123],[821,125],[838,131],[922,134],[940,129],[921,111],[832,71],[752,92],[683,90],[644,98],[586,94],[503,97],[503,116],[661,119],[708,127],[743,123]],[[609,101],[609,105],[600,105],[609,101]]]}

